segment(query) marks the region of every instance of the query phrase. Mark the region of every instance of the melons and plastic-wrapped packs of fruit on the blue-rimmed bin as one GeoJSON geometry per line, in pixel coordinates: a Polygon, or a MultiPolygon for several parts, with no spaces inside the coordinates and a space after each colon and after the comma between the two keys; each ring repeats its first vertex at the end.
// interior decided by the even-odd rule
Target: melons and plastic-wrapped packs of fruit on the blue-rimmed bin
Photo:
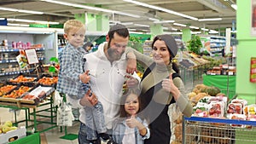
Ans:
{"type": "MultiPolygon", "coordinates": [[[[189,101],[193,105],[193,116],[207,118],[228,118],[242,120],[256,120],[256,105],[247,105],[246,100],[228,100],[217,87],[197,84],[191,93],[189,101]]],[[[245,125],[231,124],[244,128],[245,125]]]]}

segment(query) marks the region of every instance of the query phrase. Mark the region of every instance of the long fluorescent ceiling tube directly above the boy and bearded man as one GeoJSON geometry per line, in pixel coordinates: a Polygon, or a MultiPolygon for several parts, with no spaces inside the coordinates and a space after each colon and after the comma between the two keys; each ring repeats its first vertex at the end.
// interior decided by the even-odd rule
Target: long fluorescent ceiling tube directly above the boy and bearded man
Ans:
{"type": "Polygon", "coordinates": [[[48,2],[48,3],[56,3],[56,4],[61,4],[61,5],[67,5],[67,6],[71,6],[71,7],[75,7],[75,8],[91,9],[91,10],[97,10],[97,11],[102,11],[102,12],[106,12],[106,13],[121,14],[121,15],[125,15],[125,16],[131,16],[131,17],[134,17],[134,18],[140,18],[140,16],[136,15],[136,14],[128,14],[128,13],[124,13],[124,12],[120,12],[120,11],[116,11],[116,10],[90,7],[90,6],[82,5],[82,4],[66,3],[66,2],[60,2],[60,1],[55,1],[55,0],[41,0],[41,1],[48,2]]]}

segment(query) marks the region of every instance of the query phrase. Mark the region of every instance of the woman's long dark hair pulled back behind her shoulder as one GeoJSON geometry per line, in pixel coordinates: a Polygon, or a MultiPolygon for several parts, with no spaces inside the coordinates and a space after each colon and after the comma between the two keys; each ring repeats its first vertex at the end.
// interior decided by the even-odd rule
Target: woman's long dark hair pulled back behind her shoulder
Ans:
{"type": "MultiPolygon", "coordinates": [[[[154,37],[154,40],[153,40],[153,43],[152,43],[152,45],[151,45],[151,48],[153,49],[153,47],[154,47],[154,43],[155,43],[155,41],[157,41],[157,40],[161,40],[161,41],[164,41],[165,43],[166,43],[166,40],[165,39],[163,39],[163,38],[161,38],[161,36],[166,36],[166,35],[159,35],[159,36],[156,36],[156,37],[154,37]]],[[[177,47],[177,43],[176,43],[176,41],[175,41],[175,39],[171,36],[170,37],[170,41],[172,41],[172,43],[173,43],[173,45],[167,45],[166,44],[166,47],[168,48],[168,51],[169,51],[169,53],[170,53],[170,62],[172,62],[172,51],[171,51],[171,46],[173,46],[173,47],[177,47]]],[[[176,73],[179,73],[179,68],[178,68],[178,66],[177,66],[177,63],[175,63],[175,62],[172,62],[172,69],[176,72],[176,73]]]]}

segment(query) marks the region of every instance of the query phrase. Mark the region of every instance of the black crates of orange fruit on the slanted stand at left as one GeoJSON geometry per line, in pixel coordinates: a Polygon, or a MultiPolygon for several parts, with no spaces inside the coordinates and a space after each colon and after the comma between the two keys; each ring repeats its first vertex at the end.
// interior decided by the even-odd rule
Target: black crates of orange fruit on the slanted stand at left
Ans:
{"type": "Polygon", "coordinates": [[[38,105],[54,91],[57,77],[32,78],[23,75],[10,78],[8,84],[0,87],[0,101],[38,105]]]}

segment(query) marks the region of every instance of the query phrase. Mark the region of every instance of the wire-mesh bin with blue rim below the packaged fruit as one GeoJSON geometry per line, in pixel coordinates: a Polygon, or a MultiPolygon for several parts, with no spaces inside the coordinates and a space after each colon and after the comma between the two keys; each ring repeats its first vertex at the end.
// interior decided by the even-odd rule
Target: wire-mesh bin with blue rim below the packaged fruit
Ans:
{"type": "Polygon", "coordinates": [[[185,118],[183,144],[255,144],[256,122],[238,119],[185,118]]]}

